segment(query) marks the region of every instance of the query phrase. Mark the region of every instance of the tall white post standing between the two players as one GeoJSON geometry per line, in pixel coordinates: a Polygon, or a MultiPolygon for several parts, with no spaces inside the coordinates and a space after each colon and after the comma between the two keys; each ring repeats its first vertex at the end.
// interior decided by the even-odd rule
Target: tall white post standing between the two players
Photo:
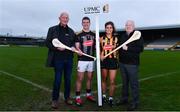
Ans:
{"type": "Polygon", "coordinates": [[[101,68],[100,68],[100,39],[99,39],[99,15],[95,14],[96,19],[96,67],[97,67],[97,89],[98,106],[102,106],[102,88],[101,88],[101,68]]]}

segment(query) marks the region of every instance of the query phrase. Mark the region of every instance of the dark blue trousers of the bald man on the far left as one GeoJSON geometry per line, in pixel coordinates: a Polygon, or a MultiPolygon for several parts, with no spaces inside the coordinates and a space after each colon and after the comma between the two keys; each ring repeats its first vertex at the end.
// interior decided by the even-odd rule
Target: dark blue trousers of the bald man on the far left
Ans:
{"type": "Polygon", "coordinates": [[[54,85],[53,85],[53,92],[52,92],[52,100],[59,99],[59,91],[61,86],[61,78],[62,73],[64,72],[64,99],[68,99],[70,97],[70,87],[71,87],[71,74],[72,74],[72,66],[73,61],[72,59],[69,60],[57,60],[54,61],[54,71],[55,71],[55,78],[54,78],[54,85]]]}

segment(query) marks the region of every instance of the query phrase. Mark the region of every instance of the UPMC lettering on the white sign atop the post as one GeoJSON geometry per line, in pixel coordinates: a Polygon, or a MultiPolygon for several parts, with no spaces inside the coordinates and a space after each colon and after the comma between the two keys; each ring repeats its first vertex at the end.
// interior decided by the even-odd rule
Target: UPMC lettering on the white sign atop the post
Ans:
{"type": "Polygon", "coordinates": [[[85,14],[100,13],[100,6],[84,8],[85,14]]]}

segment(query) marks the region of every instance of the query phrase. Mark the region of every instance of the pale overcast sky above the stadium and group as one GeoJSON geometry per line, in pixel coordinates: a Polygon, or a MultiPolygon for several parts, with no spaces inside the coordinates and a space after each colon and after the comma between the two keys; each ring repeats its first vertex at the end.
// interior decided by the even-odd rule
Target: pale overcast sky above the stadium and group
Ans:
{"type": "Polygon", "coordinates": [[[50,26],[58,24],[60,12],[70,15],[69,26],[80,31],[81,19],[89,16],[95,29],[95,16],[83,8],[109,4],[109,13],[99,15],[100,30],[113,21],[124,28],[128,19],[137,27],[180,24],[180,0],[0,0],[0,34],[46,36],[50,26]]]}

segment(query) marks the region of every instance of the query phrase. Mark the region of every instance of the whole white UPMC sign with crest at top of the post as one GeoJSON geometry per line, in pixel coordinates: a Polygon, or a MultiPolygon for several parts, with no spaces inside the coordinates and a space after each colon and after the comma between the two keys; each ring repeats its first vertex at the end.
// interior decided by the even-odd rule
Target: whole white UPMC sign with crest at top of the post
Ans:
{"type": "Polygon", "coordinates": [[[100,6],[92,6],[92,7],[85,7],[84,14],[94,14],[94,13],[108,13],[109,12],[109,5],[106,4],[103,7],[100,6]]]}

